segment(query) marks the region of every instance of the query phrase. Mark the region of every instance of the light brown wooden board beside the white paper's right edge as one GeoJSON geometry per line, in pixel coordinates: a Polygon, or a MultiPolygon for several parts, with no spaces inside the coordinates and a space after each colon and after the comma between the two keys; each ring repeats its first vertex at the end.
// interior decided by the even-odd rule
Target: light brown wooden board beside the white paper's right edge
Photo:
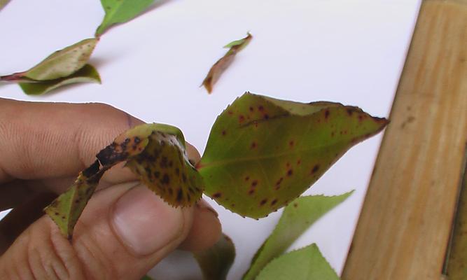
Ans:
{"type": "Polygon", "coordinates": [[[467,1],[424,1],[344,280],[441,279],[467,143],[467,1]]]}

